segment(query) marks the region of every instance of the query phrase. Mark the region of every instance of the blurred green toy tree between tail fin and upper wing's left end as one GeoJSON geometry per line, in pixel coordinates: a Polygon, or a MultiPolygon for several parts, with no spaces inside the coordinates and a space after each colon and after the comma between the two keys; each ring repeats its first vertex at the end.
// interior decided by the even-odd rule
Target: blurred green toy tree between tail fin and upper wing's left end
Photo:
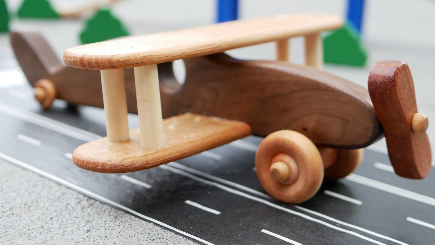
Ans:
{"type": "Polygon", "coordinates": [[[89,44],[127,35],[130,34],[121,21],[108,8],[100,8],[86,21],[84,30],[80,34],[80,41],[89,44]]]}

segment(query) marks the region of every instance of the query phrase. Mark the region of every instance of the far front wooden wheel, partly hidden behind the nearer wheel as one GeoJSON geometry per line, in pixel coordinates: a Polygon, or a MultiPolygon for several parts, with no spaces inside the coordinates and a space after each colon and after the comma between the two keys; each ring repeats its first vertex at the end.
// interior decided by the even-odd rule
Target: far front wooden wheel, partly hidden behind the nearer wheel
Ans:
{"type": "Polygon", "coordinates": [[[364,149],[344,150],[319,148],[325,167],[325,178],[345,178],[355,171],[361,163],[364,149]]]}

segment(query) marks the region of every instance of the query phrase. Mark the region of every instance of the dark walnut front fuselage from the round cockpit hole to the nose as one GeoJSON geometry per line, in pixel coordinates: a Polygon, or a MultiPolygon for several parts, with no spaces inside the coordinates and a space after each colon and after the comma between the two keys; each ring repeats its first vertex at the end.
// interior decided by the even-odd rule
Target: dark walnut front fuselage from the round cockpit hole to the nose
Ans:
{"type": "Polygon", "coordinates": [[[225,54],[184,63],[186,81],[173,104],[176,113],[245,121],[262,137],[291,129],[332,148],[363,148],[382,135],[367,90],[328,72],[225,54]]]}

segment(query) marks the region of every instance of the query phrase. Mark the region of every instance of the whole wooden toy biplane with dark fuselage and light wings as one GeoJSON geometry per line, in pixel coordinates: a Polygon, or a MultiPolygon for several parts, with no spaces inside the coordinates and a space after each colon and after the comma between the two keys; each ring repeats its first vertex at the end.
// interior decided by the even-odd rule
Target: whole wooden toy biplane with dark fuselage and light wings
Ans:
{"type": "MultiPolygon", "coordinates": [[[[396,173],[425,178],[431,168],[428,119],[417,112],[408,65],[377,62],[368,91],[320,70],[320,32],[341,25],[330,15],[286,15],[86,44],[66,50],[64,62],[87,70],[47,71],[40,78],[53,81],[35,91],[50,100],[104,104],[107,137],[73,153],[74,163],[90,171],[139,171],[254,134],[265,137],[255,157],[261,185],[280,201],[298,203],[315,195],[324,176],[354,171],[361,148],[385,135],[396,173]],[[301,35],[308,66],[221,53],[276,41],[279,60],[287,60],[289,38],[301,35]],[[186,65],[182,85],[171,67],[178,59],[186,65]],[[84,79],[96,80],[94,70],[100,70],[102,88],[84,79]],[[127,107],[138,113],[139,128],[129,130],[127,107]]],[[[24,47],[22,37],[15,36],[24,47]]]]}

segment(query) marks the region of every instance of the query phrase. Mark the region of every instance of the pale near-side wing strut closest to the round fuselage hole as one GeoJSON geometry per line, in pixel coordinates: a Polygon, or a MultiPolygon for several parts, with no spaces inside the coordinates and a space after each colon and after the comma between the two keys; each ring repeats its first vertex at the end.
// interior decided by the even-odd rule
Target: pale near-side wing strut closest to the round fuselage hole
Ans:
{"type": "Polygon", "coordinates": [[[142,149],[161,149],[164,140],[157,64],[134,67],[134,80],[142,149]]]}

